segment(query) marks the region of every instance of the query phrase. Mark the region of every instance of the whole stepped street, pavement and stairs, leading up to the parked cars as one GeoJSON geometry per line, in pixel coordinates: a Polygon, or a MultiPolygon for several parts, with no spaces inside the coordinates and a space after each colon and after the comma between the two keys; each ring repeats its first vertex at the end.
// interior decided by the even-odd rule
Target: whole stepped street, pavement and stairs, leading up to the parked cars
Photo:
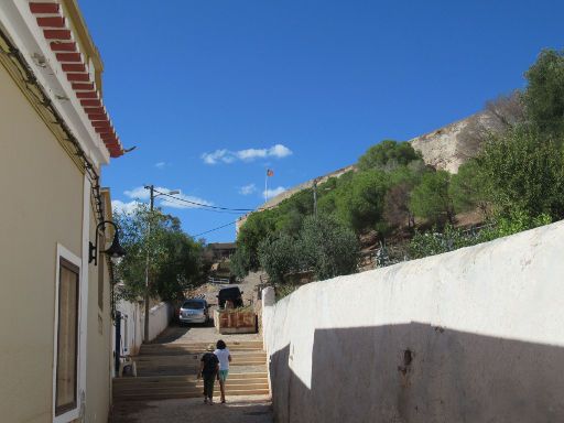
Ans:
{"type": "MultiPolygon", "coordinates": [[[[246,281],[245,296],[254,281],[246,281]]],[[[205,290],[216,302],[219,286],[205,290]]],[[[210,310],[213,315],[213,310],[210,310]]],[[[213,322],[206,325],[172,324],[135,357],[137,377],[113,380],[111,423],[134,422],[272,422],[267,377],[267,357],[258,334],[219,335],[213,322]],[[226,384],[226,404],[219,403],[215,384],[214,405],[203,403],[202,380],[196,379],[199,358],[208,344],[224,339],[232,361],[226,384]]]]}

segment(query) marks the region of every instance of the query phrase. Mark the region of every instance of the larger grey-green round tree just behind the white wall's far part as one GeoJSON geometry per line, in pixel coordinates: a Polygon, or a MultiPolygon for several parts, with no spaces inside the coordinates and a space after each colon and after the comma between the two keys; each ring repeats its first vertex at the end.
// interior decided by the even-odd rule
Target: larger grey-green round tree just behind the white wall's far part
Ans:
{"type": "Polygon", "coordinates": [[[356,272],[357,237],[332,217],[305,218],[296,248],[301,268],[313,269],[319,280],[356,272]]]}

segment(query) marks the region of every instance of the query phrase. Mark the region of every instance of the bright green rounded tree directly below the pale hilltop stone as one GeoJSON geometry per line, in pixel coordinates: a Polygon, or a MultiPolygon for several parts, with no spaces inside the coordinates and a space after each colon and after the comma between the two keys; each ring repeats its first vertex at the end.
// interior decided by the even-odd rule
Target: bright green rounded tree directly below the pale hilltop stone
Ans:
{"type": "Polygon", "coordinates": [[[451,174],[446,171],[425,173],[411,194],[411,209],[415,216],[434,224],[453,223],[454,206],[448,193],[451,174]]]}

